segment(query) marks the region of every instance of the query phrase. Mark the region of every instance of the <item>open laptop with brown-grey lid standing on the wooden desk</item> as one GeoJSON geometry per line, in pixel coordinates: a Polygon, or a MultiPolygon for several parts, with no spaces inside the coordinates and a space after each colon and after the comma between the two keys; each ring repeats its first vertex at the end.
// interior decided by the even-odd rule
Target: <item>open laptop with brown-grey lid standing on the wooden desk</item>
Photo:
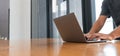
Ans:
{"type": "Polygon", "coordinates": [[[54,19],[55,25],[62,37],[66,42],[105,42],[104,40],[89,41],[84,37],[84,33],[77,21],[74,13],[64,15],[54,19]]]}

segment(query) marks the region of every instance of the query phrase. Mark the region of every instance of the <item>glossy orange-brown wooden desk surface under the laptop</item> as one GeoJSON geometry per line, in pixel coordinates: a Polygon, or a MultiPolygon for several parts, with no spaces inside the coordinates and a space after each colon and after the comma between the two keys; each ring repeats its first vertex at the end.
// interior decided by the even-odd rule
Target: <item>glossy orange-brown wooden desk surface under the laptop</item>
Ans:
{"type": "Polygon", "coordinates": [[[0,40],[0,56],[120,56],[120,41],[63,43],[59,39],[0,40]]]}

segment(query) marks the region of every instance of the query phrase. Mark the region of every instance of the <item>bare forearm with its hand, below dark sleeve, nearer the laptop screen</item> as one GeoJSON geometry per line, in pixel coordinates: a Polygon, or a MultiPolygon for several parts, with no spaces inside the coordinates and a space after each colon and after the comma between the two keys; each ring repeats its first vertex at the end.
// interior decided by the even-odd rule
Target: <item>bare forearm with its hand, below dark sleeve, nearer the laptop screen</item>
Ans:
{"type": "Polygon", "coordinates": [[[92,26],[91,30],[87,34],[84,34],[84,36],[87,37],[89,40],[96,38],[96,33],[98,33],[101,30],[106,19],[107,19],[107,16],[100,15],[98,20],[92,26]]]}

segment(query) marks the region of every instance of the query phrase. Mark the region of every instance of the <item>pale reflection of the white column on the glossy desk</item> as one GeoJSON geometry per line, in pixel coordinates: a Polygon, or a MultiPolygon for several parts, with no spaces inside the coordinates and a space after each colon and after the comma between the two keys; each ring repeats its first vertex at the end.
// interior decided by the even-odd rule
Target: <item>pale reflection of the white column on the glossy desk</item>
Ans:
{"type": "Polygon", "coordinates": [[[30,40],[10,41],[9,47],[9,56],[30,56],[30,40]]]}

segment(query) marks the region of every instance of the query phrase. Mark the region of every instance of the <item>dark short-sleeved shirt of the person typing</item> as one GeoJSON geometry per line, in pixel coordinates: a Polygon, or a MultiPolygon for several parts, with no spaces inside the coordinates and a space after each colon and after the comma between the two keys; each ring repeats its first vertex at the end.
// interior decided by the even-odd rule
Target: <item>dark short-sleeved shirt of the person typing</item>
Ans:
{"type": "Polygon", "coordinates": [[[104,0],[101,15],[112,16],[116,26],[120,25],[120,0],[104,0]]]}

